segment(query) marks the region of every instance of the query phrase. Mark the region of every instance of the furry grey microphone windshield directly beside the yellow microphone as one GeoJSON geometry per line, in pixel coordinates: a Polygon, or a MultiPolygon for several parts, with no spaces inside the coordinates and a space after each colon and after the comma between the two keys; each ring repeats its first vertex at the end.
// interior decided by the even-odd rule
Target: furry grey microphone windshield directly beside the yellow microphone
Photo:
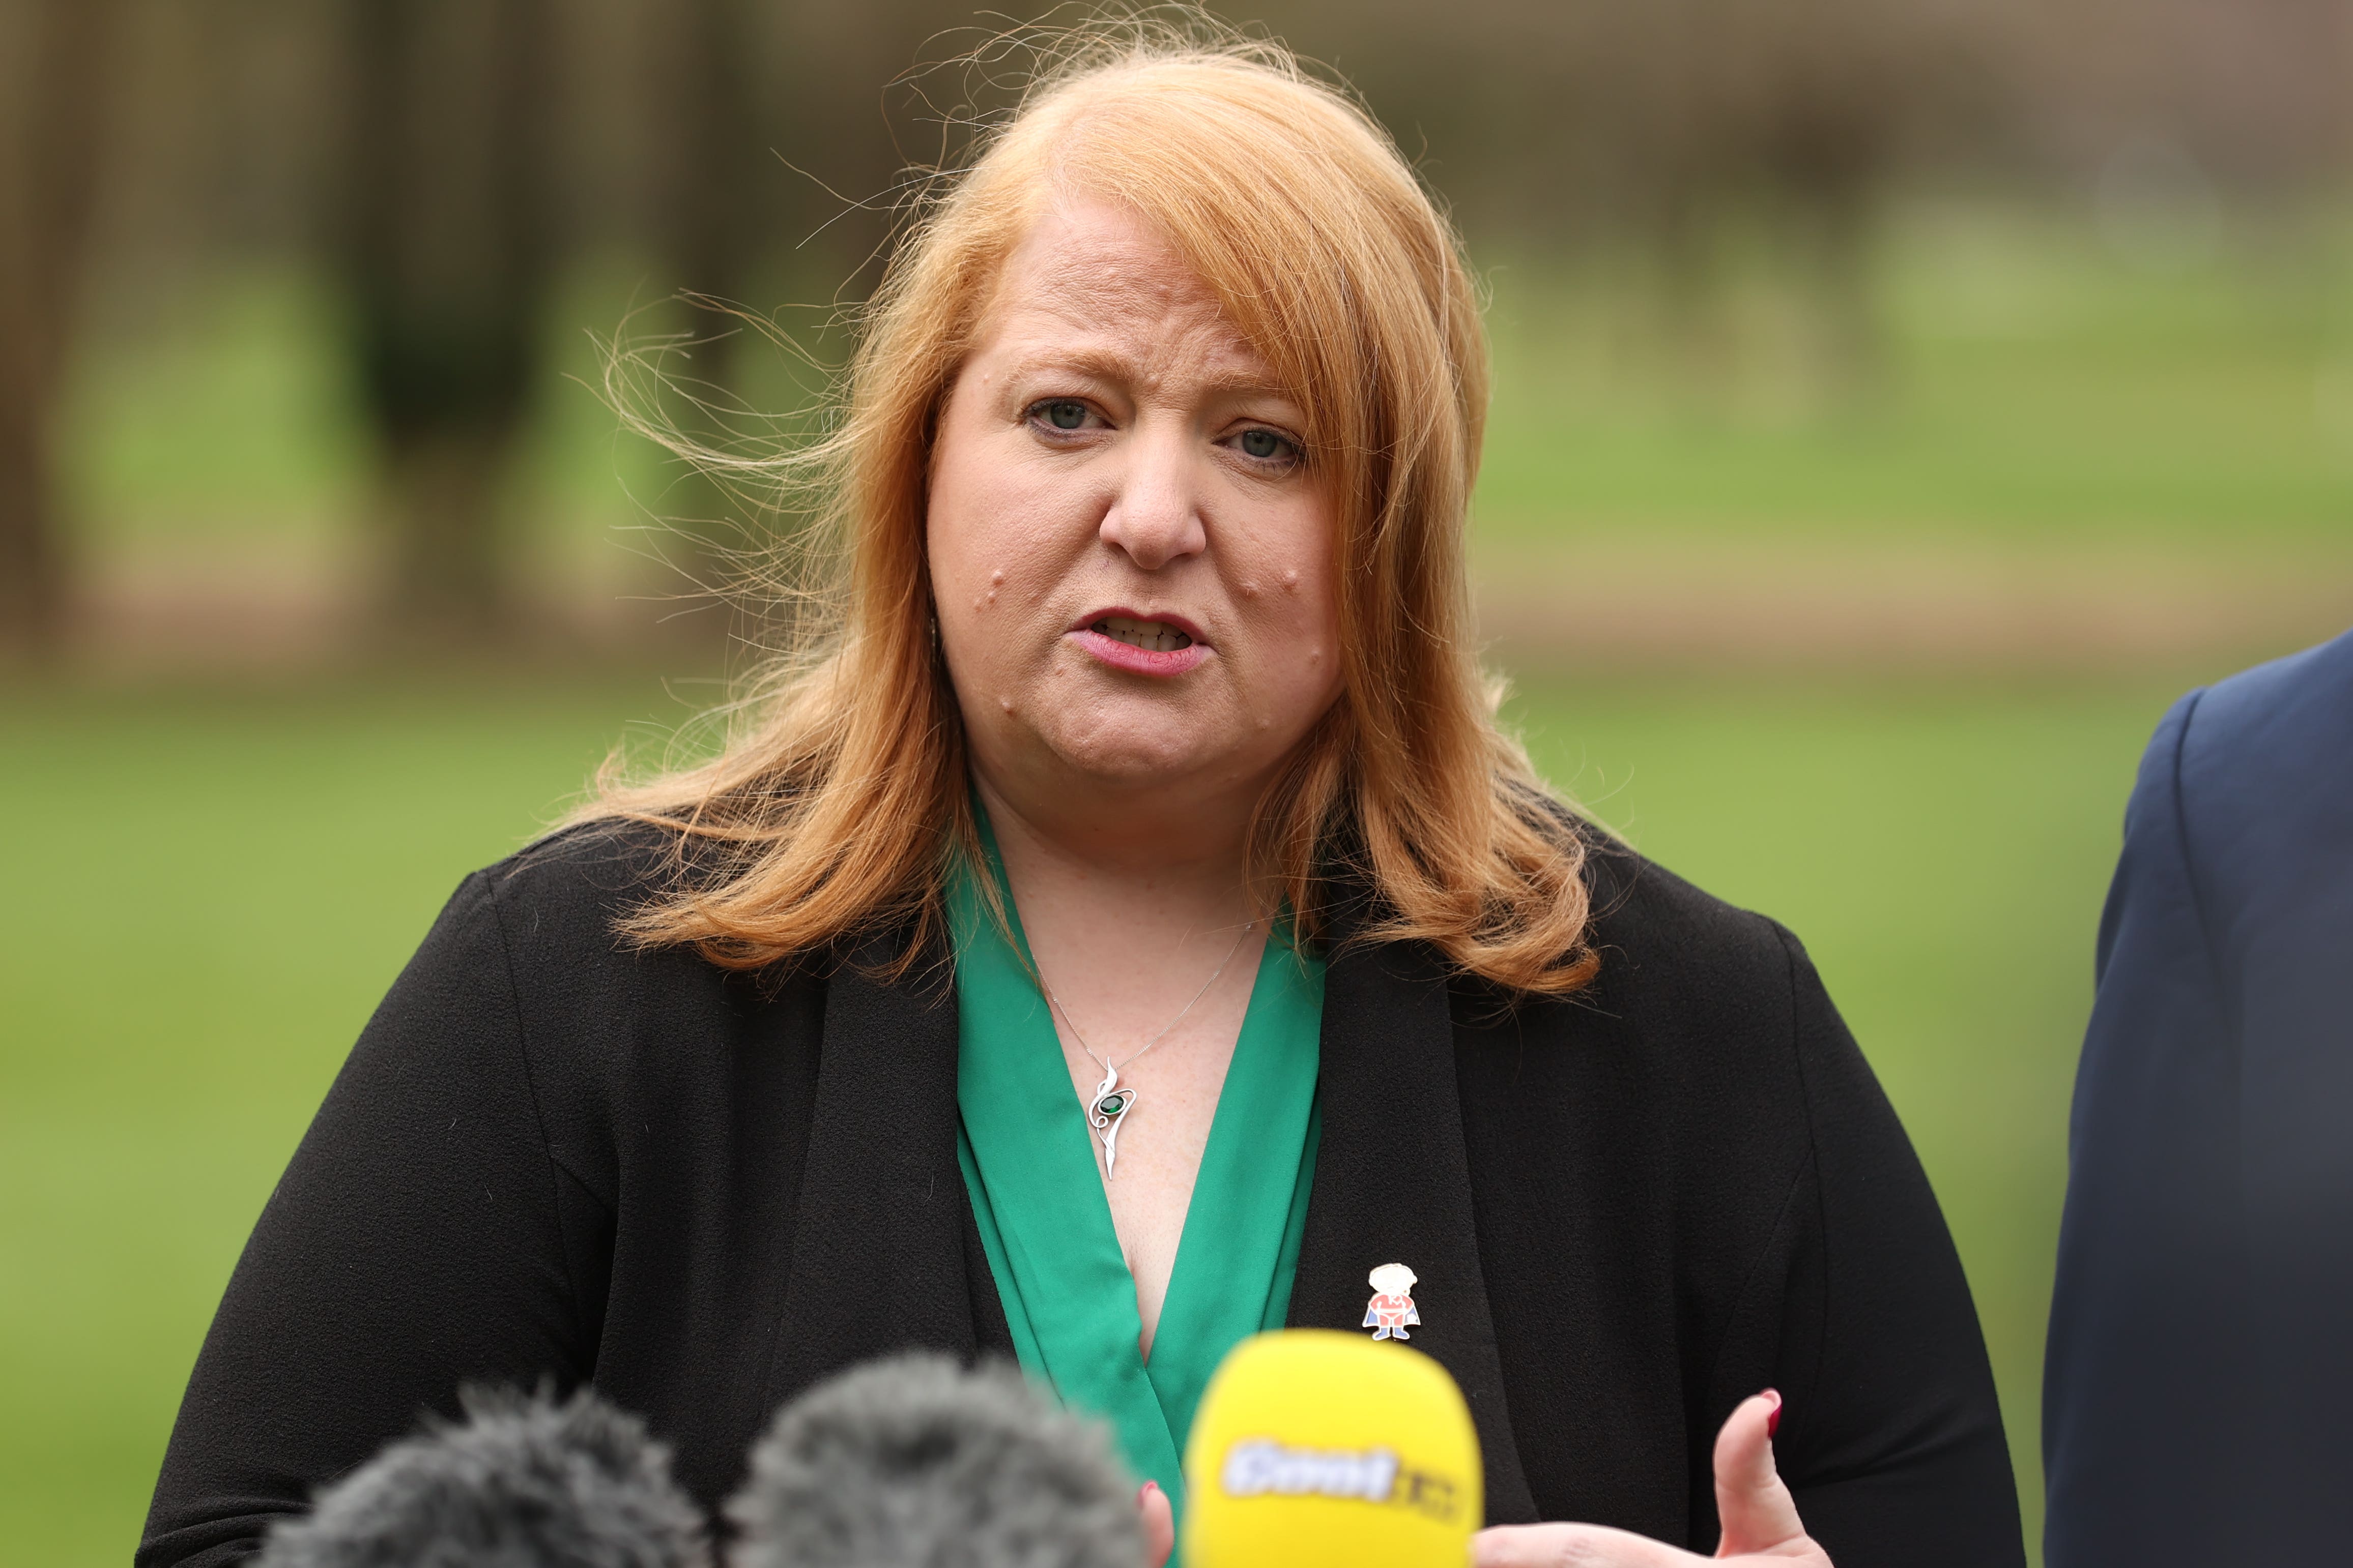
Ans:
{"type": "Polygon", "coordinates": [[[1111,1434],[1009,1366],[875,1361],[776,1413],[727,1505],[734,1568],[1141,1568],[1111,1434]]]}

